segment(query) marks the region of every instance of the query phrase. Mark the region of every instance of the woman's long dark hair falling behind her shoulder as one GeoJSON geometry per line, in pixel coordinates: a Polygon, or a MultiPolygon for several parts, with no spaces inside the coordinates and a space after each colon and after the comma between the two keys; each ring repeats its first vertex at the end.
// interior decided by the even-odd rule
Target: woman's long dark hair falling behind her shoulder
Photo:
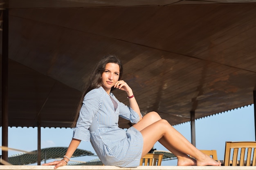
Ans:
{"type": "Polygon", "coordinates": [[[82,107],[83,98],[84,98],[85,94],[90,92],[92,89],[99,88],[99,86],[101,86],[101,74],[105,71],[106,64],[108,64],[108,63],[115,63],[115,64],[119,65],[119,72],[120,72],[119,80],[121,80],[121,77],[123,74],[123,65],[121,63],[121,60],[119,60],[119,58],[117,56],[110,55],[110,54],[101,58],[101,60],[99,60],[99,62],[95,65],[95,67],[92,71],[92,74],[90,76],[90,79],[88,81],[88,84],[85,86],[85,90],[84,90],[81,100],[79,102],[79,106],[76,110],[76,116],[75,116],[74,122],[72,123],[71,128],[76,127],[76,122],[79,117],[79,112],[82,107]]]}

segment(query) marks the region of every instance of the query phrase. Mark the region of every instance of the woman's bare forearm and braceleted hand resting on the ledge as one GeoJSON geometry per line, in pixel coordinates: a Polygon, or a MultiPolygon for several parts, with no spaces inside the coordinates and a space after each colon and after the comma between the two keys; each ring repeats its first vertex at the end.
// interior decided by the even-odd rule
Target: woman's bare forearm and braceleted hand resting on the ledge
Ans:
{"type": "MultiPolygon", "coordinates": [[[[70,142],[69,147],[67,148],[67,152],[65,154],[66,157],[71,158],[72,155],[74,154],[76,148],[79,146],[81,140],[78,139],[72,139],[70,142]]],[[[67,162],[69,161],[67,158],[63,158],[61,161],[53,161],[49,163],[44,163],[43,165],[55,165],[54,169],[60,167],[60,166],[65,166],[67,165],[67,162]],[[63,160],[64,159],[64,160],[63,160]]]]}

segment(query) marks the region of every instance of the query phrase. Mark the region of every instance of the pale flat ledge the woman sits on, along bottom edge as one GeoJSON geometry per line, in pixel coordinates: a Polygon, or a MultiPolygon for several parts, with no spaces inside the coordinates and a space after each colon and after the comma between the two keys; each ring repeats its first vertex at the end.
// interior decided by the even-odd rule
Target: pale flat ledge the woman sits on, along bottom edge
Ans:
{"type": "MultiPolygon", "coordinates": [[[[54,166],[0,165],[0,170],[54,170],[54,166]]],[[[256,170],[256,166],[63,166],[57,170],[256,170]]]]}

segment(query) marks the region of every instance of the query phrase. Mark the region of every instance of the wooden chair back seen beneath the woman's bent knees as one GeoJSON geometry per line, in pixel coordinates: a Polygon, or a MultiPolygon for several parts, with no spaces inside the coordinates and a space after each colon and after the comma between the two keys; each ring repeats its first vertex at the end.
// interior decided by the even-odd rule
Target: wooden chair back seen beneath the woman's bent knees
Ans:
{"type": "Polygon", "coordinates": [[[139,166],[161,166],[164,154],[146,154],[140,159],[139,166]]]}

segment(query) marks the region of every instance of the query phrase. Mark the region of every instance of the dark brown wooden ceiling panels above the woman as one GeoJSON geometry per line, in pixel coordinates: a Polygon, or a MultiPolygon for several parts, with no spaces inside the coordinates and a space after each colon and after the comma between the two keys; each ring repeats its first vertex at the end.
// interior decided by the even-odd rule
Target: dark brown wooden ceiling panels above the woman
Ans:
{"type": "MultiPolygon", "coordinates": [[[[191,111],[198,119],[253,103],[256,0],[1,5],[9,10],[9,126],[70,127],[105,54],[121,58],[141,112],[157,111],[172,125],[190,121],[191,111]]],[[[128,104],[125,92],[113,93],[128,104]]]]}

